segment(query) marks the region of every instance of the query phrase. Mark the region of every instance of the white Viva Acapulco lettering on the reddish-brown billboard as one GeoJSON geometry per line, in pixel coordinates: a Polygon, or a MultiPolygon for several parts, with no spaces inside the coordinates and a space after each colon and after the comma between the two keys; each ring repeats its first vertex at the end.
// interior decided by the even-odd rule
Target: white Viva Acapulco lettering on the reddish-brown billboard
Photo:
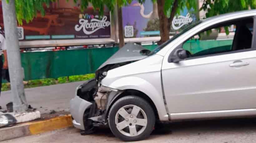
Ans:
{"type": "Polygon", "coordinates": [[[99,16],[93,16],[88,14],[80,15],[79,17],[80,18],[82,17],[82,18],[79,19],[79,24],[75,25],[75,30],[81,31],[83,29],[83,32],[86,35],[90,35],[99,29],[105,29],[105,27],[110,26],[110,21],[107,21],[107,16],[103,16],[101,20],[96,19],[96,17],[99,17],[99,16]],[[84,19],[84,18],[88,18],[88,19],[84,19]]]}

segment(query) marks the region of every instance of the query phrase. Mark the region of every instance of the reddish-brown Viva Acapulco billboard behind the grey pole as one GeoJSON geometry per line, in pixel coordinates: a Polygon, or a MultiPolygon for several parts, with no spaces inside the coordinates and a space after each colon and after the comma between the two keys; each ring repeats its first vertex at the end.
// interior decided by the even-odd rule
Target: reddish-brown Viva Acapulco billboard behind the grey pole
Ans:
{"type": "MultiPolygon", "coordinates": [[[[18,27],[20,40],[48,39],[93,39],[110,38],[110,12],[105,8],[104,15],[89,7],[84,12],[80,10],[80,2],[58,0],[51,2],[50,7],[44,7],[45,16],[40,13],[33,21],[18,27]]],[[[0,26],[3,28],[2,4],[0,10],[0,26]]]]}

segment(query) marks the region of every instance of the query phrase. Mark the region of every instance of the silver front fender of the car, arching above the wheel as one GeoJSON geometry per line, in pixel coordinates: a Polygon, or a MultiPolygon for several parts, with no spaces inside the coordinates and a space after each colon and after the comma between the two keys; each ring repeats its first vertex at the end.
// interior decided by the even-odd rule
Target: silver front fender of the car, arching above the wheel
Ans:
{"type": "Polygon", "coordinates": [[[155,54],[112,69],[108,71],[101,84],[118,90],[139,90],[145,93],[154,102],[159,118],[168,121],[161,87],[162,59],[162,56],[155,54]]]}

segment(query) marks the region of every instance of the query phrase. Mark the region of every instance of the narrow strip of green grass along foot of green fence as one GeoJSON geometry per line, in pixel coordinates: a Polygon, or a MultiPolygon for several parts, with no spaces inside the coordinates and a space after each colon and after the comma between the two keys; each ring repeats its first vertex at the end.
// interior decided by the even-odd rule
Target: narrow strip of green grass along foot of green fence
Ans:
{"type": "MultiPolygon", "coordinates": [[[[86,81],[95,77],[95,74],[86,74],[86,75],[77,75],[77,76],[63,76],[57,79],[53,78],[46,78],[41,80],[31,80],[31,81],[23,81],[24,88],[31,88],[31,87],[39,87],[39,86],[47,86],[47,85],[55,85],[55,84],[62,84],[62,83],[69,83],[69,82],[76,82],[76,81],[86,81]]],[[[10,83],[2,83],[1,91],[7,91],[11,89],[10,83]]]]}

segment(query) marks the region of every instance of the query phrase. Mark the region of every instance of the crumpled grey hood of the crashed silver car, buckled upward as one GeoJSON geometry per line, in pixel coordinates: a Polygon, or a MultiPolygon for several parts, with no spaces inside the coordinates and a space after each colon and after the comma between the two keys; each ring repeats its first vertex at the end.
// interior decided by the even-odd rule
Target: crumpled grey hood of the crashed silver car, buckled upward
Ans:
{"type": "MultiPolygon", "coordinates": [[[[109,64],[116,64],[121,62],[129,62],[129,61],[137,61],[142,58],[147,57],[146,55],[142,55],[141,51],[148,51],[147,49],[143,48],[141,45],[128,43],[121,49],[119,49],[114,55],[112,55],[109,59],[106,60],[98,69],[105,67],[109,64]]],[[[144,53],[145,54],[145,53],[144,53]]]]}

